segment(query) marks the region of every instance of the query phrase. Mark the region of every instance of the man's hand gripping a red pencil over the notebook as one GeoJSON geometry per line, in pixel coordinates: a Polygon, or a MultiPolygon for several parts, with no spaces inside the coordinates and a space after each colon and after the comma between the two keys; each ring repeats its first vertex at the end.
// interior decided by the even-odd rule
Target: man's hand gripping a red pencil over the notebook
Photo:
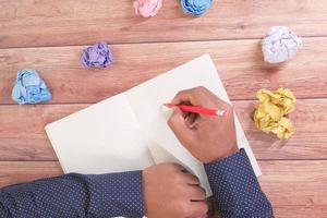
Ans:
{"type": "Polygon", "coordinates": [[[238,152],[234,114],[232,107],[204,87],[182,90],[171,104],[202,106],[227,111],[227,117],[184,113],[179,108],[168,124],[192,155],[203,162],[228,157],[238,152]]]}

